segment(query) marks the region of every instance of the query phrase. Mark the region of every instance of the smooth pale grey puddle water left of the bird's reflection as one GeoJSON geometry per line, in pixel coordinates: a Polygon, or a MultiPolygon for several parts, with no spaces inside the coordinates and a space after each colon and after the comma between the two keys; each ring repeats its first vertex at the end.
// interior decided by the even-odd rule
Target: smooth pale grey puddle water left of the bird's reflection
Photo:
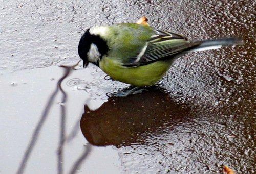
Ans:
{"type": "MultiPolygon", "coordinates": [[[[28,151],[30,153],[26,160],[26,173],[57,172],[57,152],[61,140],[60,135],[63,131],[65,131],[67,142],[62,144],[62,170],[71,171],[76,160],[88,148],[88,143],[79,128],[81,108],[89,100],[90,102],[87,104],[91,108],[99,107],[106,101],[105,95],[99,96],[93,92],[78,90],[81,84],[71,83],[77,80],[75,77],[87,77],[87,80],[90,79],[89,82],[80,80],[83,82],[83,86],[95,87],[97,88],[95,91],[100,91],[100,86],[95,86],[92,83],[95,80],[95,75],[92,76],[90,71],[95,71],[95,69],[91,67],[91,70],[89,68],[88,70],[74,71],[63,80],[61,83],[62,89],[68,94],[65,103],[62,103],[63,94],[59,88],[57,88],[57,93],[54,90],[57,87],[58,80],[63,76],[63,68],[51,66],[23,70],[22,73],[18,71],[2,74],[0,77],[2,84],[0,92],[2,117],[0,119],[1,138],[5,143],[1,143],[0,148],[4,150],[2,156],[8,158],[0,162],[1,166],[5,166],[5,168],[1,168],[1,172],[15,173],[17,166],[20,165],[20,161],[24,157],[25,150],[28,150],[29,144],[30,150],[28,151]],[[91,95],[95,96],[92,98],[91,95]],[[96,100],[97,102],[95,102],[96,100]],[[65,113],[61,112],[61,108],[65,109],[65,113]],[[65,129],[63,130],[63,128],[65,129]],[[36,134],[37,129],[38,133],[36,134]],[[33,143],[30,142],[32,135],[35,134],[34,141],[32,141],[35,143],[33,146],[33,143]]],[[[102,72],[95,71],[94,73],[99,73],[97,76],[98,82],[105,81],[103,77],[100,79],[100,73],[102,72]]],[[[111,92],[113,89],[113,86],[108,86],[105,83],[102,93],[105,90],[111,92]]],[[[114,173],[119,171],[119,155],[112,147],[90,147],[90,154],[87,159],[83,160],[82,167],[77,168],[78,171],[95,172],[93,166],[98,162],[100,164],[97,164],[99,167],[97,171],[100,173],[106,167],[114,173]],[[98,159],[99,156],[101,156],[101,159],[98,159]]]]}

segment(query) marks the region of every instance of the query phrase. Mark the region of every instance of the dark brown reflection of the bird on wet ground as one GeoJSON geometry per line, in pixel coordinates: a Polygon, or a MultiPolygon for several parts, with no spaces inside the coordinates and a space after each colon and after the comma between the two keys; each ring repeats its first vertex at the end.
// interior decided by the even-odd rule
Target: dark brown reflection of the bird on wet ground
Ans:
{"type": "Polygon", "coordinates": [[[144,144],[147,137],[172,129],[189,118],[188,104],[179,104],[161,89],[141,94],[110,97],[98,110],[84,106],[81,131],[93,145],[144,144]]]}

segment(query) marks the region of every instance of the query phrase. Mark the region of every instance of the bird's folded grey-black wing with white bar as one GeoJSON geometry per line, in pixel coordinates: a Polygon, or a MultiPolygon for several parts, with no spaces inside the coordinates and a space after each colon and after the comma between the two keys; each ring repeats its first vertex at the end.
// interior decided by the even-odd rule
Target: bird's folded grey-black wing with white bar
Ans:
{"type": "Polygon", "coordinates": [[[167,31],[155,30],[156,34],[141,49],[137,57],[129,59],[123,66],[142,66],[155,61],[170,59],[187,49],[198,46],[199,42],[190,42],[184,36],[167,31]]]}

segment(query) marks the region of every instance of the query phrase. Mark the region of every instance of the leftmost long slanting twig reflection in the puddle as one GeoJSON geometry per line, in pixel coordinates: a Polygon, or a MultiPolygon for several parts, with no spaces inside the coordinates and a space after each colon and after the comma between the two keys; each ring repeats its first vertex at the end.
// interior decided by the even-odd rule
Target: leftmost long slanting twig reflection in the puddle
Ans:
{"type": "Polygon", "coordinates": [[[65,73],[65,75],[63,77],[61,77],[57,83],[57,88],[55,89],[55,91],[51,94],[51,97],[49,98],[48,102],[47,102],[47,105],[44,109],[44,111],[42,112],[42,115],[41,115],[41,118],[39,120],[39,122],[37,123],[36,125],[36,128],[35,128],[35,131],[33,132],[33,135],[32,135],[32,138],[31,138],[31,141],[29,142],[29,145],[25,151],[25,154],[23,156],[23,159],[22,159],[22,162],[20,163],[19,165],[19,168],[18,168],[18,171],[17,173],[20,174],[20,173],[23,173],[24,170],[25,170],[25,167],[26,167],[26,164],[28,162],[28,159],[31,155],[31,152],[33,151],[33,148],[35,146],[35,143],[38,139],[38,136],[39,136],[39,132],[42,128],[42,126],[44,125],[45,121],[46,121],[46,118],[49,114],[49,111],[52,107],[52,104],[53,104],[53,101],[54,101],[54,98],[56,96],[56,94],[58,93],[58,88],[59,88],[59,85],[61,84],[61,82],[68,76],[67,73],[65,73]]]}

